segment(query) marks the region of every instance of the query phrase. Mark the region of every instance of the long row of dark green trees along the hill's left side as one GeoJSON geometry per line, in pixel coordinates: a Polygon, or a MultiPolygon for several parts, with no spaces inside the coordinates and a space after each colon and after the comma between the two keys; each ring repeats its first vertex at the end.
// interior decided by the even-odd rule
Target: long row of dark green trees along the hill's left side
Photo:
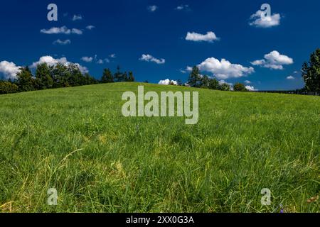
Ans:
{"type": "Polygon", "coordinates": [[[76,64],[63,65],[59,63],[49,66],[42,63],[37,65],[35,74],[31,72],[29,67],[21,67],[16,74],[16,79],[1,80],[0,94],[112,82],[134,82],[134,75],[132,72],[121,72],[118,66],[117,72],[114,73],[105,69],[101,79],[98,80],[88,73],[82,74],[76,64]]]}

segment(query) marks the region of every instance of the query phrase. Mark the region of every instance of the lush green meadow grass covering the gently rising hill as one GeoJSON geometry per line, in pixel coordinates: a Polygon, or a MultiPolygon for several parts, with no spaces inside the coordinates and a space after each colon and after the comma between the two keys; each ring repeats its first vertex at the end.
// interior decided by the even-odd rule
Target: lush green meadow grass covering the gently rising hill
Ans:
{"type": "Polygon", "coordinates": [[[307,202],[320,194],[319,96],[143,84],[198,91],[199,122],[187,126],[122,116],[122,92],[138,85],[0,96],[0,211],[320,211],[307,202]]]}

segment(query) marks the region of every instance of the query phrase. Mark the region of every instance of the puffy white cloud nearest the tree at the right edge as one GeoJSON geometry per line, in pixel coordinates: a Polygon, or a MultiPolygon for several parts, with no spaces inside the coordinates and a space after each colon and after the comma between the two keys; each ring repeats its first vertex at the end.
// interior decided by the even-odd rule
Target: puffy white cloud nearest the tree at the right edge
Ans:
{"type": "Polygon", "coordinates": [[[277,50],[274,50],[265,55],[265,59],[255,60],[252,65],[270,68],[272,70],[283,70],[284,65],[292,65],[293,59],[287,55],[281,55],[277,50]]]}

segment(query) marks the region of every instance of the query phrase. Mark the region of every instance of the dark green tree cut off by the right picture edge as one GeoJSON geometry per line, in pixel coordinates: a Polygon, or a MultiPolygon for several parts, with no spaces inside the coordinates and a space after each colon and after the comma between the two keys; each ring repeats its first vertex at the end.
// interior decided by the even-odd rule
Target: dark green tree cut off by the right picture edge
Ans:
{"type": "Polygon", "coordinates": [[[310,55],[309,62],[302,65],[302,78],[307,92],[320,92],[320,49],[310,55]]]}

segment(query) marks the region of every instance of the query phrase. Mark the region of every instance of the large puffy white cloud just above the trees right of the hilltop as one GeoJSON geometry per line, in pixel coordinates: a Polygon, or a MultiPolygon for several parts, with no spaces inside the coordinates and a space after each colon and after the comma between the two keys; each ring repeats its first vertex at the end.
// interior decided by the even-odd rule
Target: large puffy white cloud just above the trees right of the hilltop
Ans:
{"type": "Polygon", "coordinates": [[[239,64],[233,64],[224,58],[221,60],[215,57],[207,58],[198,65],[199,70],[211,72],[218,79],[245,77],[247,74],[255,72],[253,67],[244,67],[239,64]]]}

